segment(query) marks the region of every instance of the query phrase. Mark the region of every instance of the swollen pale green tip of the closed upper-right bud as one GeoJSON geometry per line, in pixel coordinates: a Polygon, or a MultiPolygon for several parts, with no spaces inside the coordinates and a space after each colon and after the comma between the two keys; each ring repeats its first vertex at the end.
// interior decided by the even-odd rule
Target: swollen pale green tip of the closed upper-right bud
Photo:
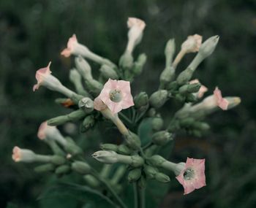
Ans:
{"type": "Polygon", "coordinates": [[[203,58],[207,58],[211,53],[214,52],[215,47],[219,42],[219,36],[211,36],[210,38],[206,39],[205,42],[199,48],[198,54],[201,55],[203,58]]]}

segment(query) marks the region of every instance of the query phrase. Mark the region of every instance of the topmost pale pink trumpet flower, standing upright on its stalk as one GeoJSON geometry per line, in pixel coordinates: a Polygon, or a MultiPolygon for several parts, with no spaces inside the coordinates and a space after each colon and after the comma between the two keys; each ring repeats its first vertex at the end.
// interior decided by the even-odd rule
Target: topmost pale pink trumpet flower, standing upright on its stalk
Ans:
{"type": "Polygon", "coordinates": [[[129,28],[127,51],[132,53],[135,45],[138,45],[142,39],[143,30],[146,24],[143,20],[138,18],[128,18],[127,26],[129,28]]]}

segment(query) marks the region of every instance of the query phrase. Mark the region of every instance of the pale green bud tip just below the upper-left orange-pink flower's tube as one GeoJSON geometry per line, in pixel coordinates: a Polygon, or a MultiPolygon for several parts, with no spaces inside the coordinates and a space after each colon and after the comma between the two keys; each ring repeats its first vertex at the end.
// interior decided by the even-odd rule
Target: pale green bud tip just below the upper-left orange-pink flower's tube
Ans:
{"type": "Polygon", "coordinates": [[[84,58],[82,58],[81,56],[76,57],[75,66],[78,69],[78,72],[82,75],[83,79],[93,79],[91,76],[91,66],[84,58]]]}

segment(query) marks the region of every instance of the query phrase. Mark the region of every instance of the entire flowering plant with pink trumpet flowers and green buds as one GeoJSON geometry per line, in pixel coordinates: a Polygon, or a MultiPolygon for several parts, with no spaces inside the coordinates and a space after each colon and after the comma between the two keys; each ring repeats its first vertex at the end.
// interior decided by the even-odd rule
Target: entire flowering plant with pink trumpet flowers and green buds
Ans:
{"type": "MultiPolygon", "coordinates": [[[[184,187],[184,194],[203,188],[206,185],[204,158],[187,158],[186,163],[174,163],[162,154],[162,149],[173,143],[180,130],[195,136],[202,135],[209,128],[205,122],[207,115],[217,110],[231,109],[240,103],[238,97],[222,97],[217,87],[211,96],[200,101],[208,88],[199,80],[192,80],[192,77],[197,66],[214,52],[219,36],[211,36],[202,44],[203,38],[198,34],[188,36],[175,58],[175,41],[168,40],[165,69],[159,77],[159,88],[151,95],[146,92],[132,95],[131,84],[146,63],[144,53],[134,60],[133,50],[140,43],[146,24],[138,18],[129,18],[127,26],[127,47],[118,66],[80,44],[75,34],[69,38],[67,48],[61,55],[75,56],[75,68],[69,73],[75,91],[53,76],[50,63],[37,71],[37,84],[33,90],[44,86],[63,94],[66,98],[56,101],[72,109],[72,112],[51,118],[39,127],[37,136],[50,147],[52,155],[39,155],[20,147],[14,147],[12,154],[15,162],[41,163],[35,167],[36,172],[52,172],[59,177],[72,172],[81,174],[85,184],[80,187],[96,194],[104,201],[105,207],[129,206],[124,196],[124,190],[129,187],[127,182],[134,187],[132,207],[146,207],[145,191],[151,180],[168,183],[170,177],[176,176],[184,187]],[[187,69],[177,74],[178,63],[187,53],[197,55],[187,69]],[[99,64],[98,78],[91,73],[88,60],[99,64]],[[160,109],[169,104],[167,101],[170,99],[179,101],[183,107],[170,115],[171,120],[167,122],[162,118],[160,109]],[[123,139],[116,143],[106,143],[107,139],[102,139],[101,150],[91,155],[95,159],[91,161],[75,140],[63,136],[57,128],[75,121],[80,123],[83,133],[98,123],[110,122],[123,139]],[[140,134],[145,122],[150,123],[149,140],[140,134]],[[99,163],[102,165],[99,166],[99,163]],[[127,180],[124,180],[125,177],[127,180]]],[[[176,158],[173,160],[176,161],[176,158]]]]}

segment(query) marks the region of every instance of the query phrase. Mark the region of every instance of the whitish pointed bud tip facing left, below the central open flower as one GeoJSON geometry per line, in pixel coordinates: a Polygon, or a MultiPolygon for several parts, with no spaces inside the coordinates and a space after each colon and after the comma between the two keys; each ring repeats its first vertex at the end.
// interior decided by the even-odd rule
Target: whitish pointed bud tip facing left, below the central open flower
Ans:
{"type": "Polygon", "coordinates": [[[92,157],[97,159],[97,161],[106,163],[106,164],[113,164],[118,162],[117,158],[118,154],[114,151],[97,151],[96,153],[92,154],[92,157]]]}

